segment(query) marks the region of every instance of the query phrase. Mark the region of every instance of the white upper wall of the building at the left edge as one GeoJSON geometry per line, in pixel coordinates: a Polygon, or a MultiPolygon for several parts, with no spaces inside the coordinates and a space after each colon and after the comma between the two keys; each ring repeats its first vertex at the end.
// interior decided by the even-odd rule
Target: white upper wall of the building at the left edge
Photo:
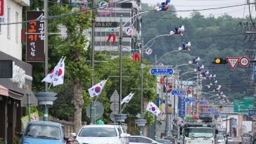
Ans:
{"type": "MultiPolygon", "coordinates": [[[[5,15],[5,22],[7,22],[7,13],[8,8],[10,11],[10,22],[21,22],[22,21],[22,6],[17,4],[13,0],[6,0],[6,10],[4,11],[5,15]],[[18,14],[18,19],[16,19],[16,13],[18,14]]],[[[10,27],[10,35],[8,37],[8,25],[1,25],[0,26],[0,51],[7,53],[8,55],[13,56],[14,58],[18,58],[21,60],[22,58],[22,45],[21,45],[21,29],[22,24],[13,24],[9,25],[10,27]]]]}

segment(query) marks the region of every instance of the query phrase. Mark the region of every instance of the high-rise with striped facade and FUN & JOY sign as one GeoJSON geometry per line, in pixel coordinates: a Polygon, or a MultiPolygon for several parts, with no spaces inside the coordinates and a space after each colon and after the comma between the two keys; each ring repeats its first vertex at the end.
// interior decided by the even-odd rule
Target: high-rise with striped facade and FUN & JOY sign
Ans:
{"type": "MultiPolygon", "coordinates": [[[[141,0],[109,0],[108,8],[98,8],[95,25],[95,51],[119,51],[120,29],[118,27],[120,27],[121,15],[122,24],[126,23],[122,28],[122,51],[139,50],[141,47],[141,43],[139,43],[141,39],[141,16],[134,15],[140,11],[141,0]],[[132,35],[126,34],[127,28],[132,28],[132,35]]],[[[88,32],[90,37],[91,30],[88,32]]]]}

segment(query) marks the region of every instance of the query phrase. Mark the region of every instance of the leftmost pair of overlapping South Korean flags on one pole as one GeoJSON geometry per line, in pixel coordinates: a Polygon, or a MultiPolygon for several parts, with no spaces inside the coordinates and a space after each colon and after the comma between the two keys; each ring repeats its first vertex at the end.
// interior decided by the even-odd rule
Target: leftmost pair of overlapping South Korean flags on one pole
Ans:
{"type": "MultiPolygon", "coordinates": [[[[65,57],[66,58],[66,57],[65,57]]],[[[44,77],[41,82],[48,82],[57,86],[64,83],[64,73],[65,73],[65,58],[60,58],[58,64],[49,72],[49,74],[44,77]]]]}

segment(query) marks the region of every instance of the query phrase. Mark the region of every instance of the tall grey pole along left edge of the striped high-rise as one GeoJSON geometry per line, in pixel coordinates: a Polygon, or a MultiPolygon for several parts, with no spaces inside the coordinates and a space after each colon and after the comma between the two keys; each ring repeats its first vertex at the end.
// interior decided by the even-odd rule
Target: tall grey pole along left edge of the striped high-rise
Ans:
{"type": "MultiPolygon", "coordinates": [[[[94,31],[95,31],[95,17],[96,17],[96,6],[95,0],[92,0],[92,20],[91,20],[91,86],[94,86],[94,31]]],[[[90,104],[90,124],[95,124],[95,105],[94,100],[90,104]]]]}

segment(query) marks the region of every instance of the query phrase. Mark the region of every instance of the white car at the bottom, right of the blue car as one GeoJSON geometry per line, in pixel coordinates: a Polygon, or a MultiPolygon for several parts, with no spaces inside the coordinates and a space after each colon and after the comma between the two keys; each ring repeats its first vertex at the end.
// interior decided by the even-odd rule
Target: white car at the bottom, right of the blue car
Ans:
{"type": "Polygon", "coordinates": [[[128,144],[130,135],[122,126],[101,124],[82,126],[77,134],[79,144],[128,144]]]}

